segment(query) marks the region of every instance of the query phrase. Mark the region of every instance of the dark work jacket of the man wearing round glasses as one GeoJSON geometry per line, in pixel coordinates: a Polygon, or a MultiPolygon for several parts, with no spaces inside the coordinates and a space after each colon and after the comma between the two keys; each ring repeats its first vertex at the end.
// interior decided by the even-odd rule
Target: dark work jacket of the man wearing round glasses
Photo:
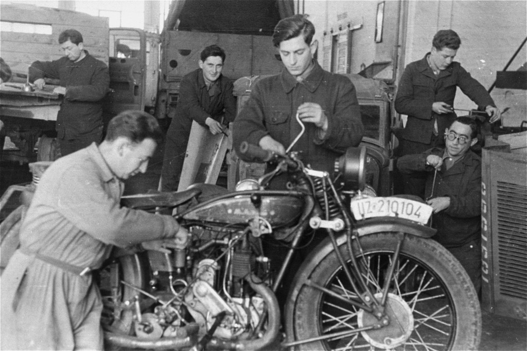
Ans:
{"type": "MultiPolygon", "coordinates": [[[[432,148],[422,154],[402,156],[397,160],[401,173],[428,172],[425,196],[432,194],[434,168],[425,165],[426,157],[443,157],[444,149],[432,148]]],[[[481,237],[481,157],[469,150],[448,171],[437,171],[432,197],[450,197],[450,206],[433,215],[437,229],[434,239],[445,247],[458,247],[481,237]]]]}

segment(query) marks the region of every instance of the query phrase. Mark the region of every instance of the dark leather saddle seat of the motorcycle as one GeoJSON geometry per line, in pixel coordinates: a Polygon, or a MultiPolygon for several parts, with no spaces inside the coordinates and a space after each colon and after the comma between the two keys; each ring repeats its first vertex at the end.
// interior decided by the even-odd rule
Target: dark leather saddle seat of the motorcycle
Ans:
{"type": "Polygon", "coordinates": [[[201,189],[192,188],[182,192],[135,194],[121,197],[121,204],[130,208],[176,207],[201,194],[201,189]]]}

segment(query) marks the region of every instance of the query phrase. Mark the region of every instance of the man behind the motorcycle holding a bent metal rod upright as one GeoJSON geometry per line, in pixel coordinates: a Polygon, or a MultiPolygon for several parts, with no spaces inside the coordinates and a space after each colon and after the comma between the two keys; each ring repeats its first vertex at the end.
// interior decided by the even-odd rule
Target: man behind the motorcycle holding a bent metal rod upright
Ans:
{"type": "Polygon", "coordinates": [[[292,150],[300,151],[314,169],[333,173],[335,158],[360,143],[364,127],[352,82],[324,71],[314,59],[318,47],[314,34],[307,15],[278,22],[272,41],[286,69],[252,88],[236,119],[233,143],[236,150],[247,141],[284,154],[300,132],[298,115],[306,131],[292,150]]]}

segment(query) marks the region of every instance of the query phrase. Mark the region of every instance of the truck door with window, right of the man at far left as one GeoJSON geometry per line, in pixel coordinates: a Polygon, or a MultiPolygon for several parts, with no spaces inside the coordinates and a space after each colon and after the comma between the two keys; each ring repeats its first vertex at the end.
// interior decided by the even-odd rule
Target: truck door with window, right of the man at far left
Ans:
{"type": "Polygon", "coordinates": [[[127,109],[144,111],[147,41],[141,29],[110,28],[110,89],[105,113],[110,118],[127,109]]]}

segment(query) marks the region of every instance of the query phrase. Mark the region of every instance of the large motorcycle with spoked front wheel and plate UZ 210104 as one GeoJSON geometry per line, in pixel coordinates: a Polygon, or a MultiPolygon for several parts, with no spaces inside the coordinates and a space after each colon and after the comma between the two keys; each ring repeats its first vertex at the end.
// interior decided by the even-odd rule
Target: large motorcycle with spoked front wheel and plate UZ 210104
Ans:
{"type": "Polygon", "coordinates": [[[298,152],[280,156],[243,143],[240,153],[271,171],[242,180],[235,192],[196,184],[123,198],[133,208],[177,207],[190,237],[184,250],[115,254],[100,270],[109,345],[478,349],[478,298],[460,263],[431,239],[432,208],[376,197],[365,184],[365,148],[336,161],[336,178],[306,166],[298,152]],[[279,176],[288,177],[286,189],[270,189],[279,176]],[[289,280],[295,252],[315,230],[324,240],[289,280]],[[273,245],[287,250],[278,269],[273,245]]]}

